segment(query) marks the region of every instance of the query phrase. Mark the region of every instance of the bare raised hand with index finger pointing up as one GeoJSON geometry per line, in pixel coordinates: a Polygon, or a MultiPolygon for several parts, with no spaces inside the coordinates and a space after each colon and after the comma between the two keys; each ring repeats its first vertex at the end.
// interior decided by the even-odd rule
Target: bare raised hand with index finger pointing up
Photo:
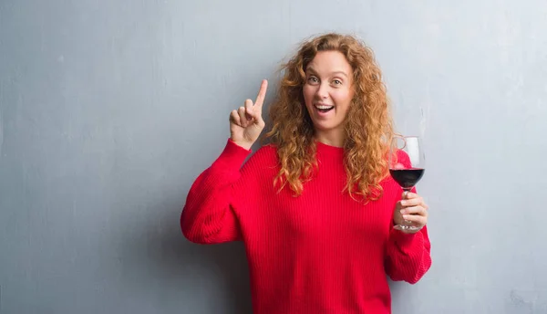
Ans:
{"type": "Polygon", "coordinates": [[[263,79],[254,103],[253,100],[246,99],[243,107],[232,110],[230,114],[230,138],[246,150],[251,149],[264,129],[262,109],[266,89],[268,89],[268,81],[263,79]]]}

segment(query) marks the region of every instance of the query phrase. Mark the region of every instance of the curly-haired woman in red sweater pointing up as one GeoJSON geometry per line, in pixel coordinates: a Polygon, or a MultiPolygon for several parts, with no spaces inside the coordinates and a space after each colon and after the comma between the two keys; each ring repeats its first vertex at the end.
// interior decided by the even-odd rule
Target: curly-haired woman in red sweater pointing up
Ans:
{"type": "Polygon", "coordinates": [[[428,206],[388,175],[392,119],[371,50],[338,34],[304,42],[284,66],[270,143],[241,167],[264,128],[266,88],[232,111],[230,139],[188,194],[183,234],[243,240],[254,313],[390,313],[387,276],[416,283],[431,265],[428,206]],[[418,230],[393,228],[404,220],[418,230]]]}

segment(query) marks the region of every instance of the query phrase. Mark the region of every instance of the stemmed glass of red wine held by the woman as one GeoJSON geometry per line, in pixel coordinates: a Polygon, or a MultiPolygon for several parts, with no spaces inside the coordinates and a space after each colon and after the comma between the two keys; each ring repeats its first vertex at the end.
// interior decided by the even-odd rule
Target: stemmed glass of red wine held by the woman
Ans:
{"type": "MultiPolygon", "coordinates": [[[[403,189],[403,198],[424,175],[426,157],[418,136],[396,136],[389,152],[389,174],[403,189]]],[[[397,230],[417,230],[418,227],[405,221],[395,225],[397,230]]]]}

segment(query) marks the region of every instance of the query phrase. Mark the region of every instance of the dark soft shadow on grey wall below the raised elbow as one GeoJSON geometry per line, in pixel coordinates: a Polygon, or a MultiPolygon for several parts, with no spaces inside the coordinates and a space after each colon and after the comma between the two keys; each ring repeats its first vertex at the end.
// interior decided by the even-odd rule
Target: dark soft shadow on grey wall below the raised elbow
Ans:
{"type": "Polygon", "coordinates": [[[146,293],[144,288],[160,291],[151,298],[166,312],[252,313],[243,243],[189,242],[181,233],[179,204],[150,208],[147,213],[167,214],[149,219],[138,236],[125,236],[124,287],[135,289],[130,293],[136,297],[146,293]]]}

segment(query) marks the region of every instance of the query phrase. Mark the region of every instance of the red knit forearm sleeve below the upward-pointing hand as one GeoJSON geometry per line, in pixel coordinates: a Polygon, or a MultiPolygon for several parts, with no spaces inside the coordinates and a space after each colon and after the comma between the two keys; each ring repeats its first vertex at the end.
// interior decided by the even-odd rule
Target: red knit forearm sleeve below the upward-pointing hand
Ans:
{"type": "Polygon", "coordinates": [[[221,155],[191,185],[181,214],[182,234],[191,242],[218,244],[241,240],[232,188],[240,168],[251,151],[228,140],[221,155]]]}

